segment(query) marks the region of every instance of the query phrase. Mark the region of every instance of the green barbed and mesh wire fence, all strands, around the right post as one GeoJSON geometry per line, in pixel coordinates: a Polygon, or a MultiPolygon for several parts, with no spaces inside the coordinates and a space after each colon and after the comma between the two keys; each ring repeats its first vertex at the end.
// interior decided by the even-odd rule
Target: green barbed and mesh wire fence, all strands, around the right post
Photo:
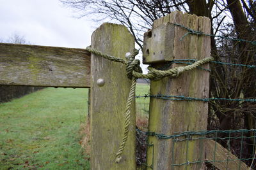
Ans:
{"type": "MultiPolygon", "coordinates": [[[[176,26],[182,27],[186,29],[188,32],[180,38],[180,41],[185,36],[189,34],[195,34],[197,36],[214,36],[216,38],[227,39],[231,41],[237,41],[238,43],[250,43],[251,45],[256,45],[256,41],[250,41],[247,39],[237,39],[237,38],[229,38],[228,36],[216,36],[212,34],[205,34],[204,32],[195,31],[188,27],[184,27],[184,25],[174,24],[176,26]]],[[[159,68],[160,70],[165,70],[170,68],[172,64],[187,64],[191,65],[195,63],[196,59],[180,59],[180,60],[172,60],[164,64],[163,67],[159,68]]],[[[229,60],[228,60],[229,61],[229,60]]],[[[253,61],[253,60],[252,60],[253,61]]],[[[212,67],[225,66],[230,67],[230,69],[234,69],[235,71],[241,71],[242,69],[252,69],[255,71],[256,66],[253,65],[254,62],[246,62],[246,63],[236,63],[236,62],[227,62],[225,60],[220,61],[211,61],[210,63],[212,67]]],[[[211,69],[205,69],[204,67],[198,67],[198,69],[202,69],[204,71],[211,71],[211,69]]],[[[149,89],[148,92],[140,91],[136,92],[136,114],[137,117],[141,117],[141,115],[147,115],[149,113],[149,101],[150,98],[154,99],[163,99],[163,100],[171,100],[171,101],[203,101],[214,103],[216,101],[227,101],[230,103],[256,103],[256,98],[244,98],[243,96],[239,96],[237,98],[232,98],[229,96],[225,96],[226,98],[196,98],[191,96],[168,96],[165,94],[150,94],[149,89]],[[142,92],[142,93],[141,93],[142,92]]],[[[211,131],[186,131],[186,132],[175,132],[174,134],[161,134],[157,132],[149,132],[147,128],[147,124],[141,124],[141,122],[145,122],[147,120],[140,120],[136,122],[136,145],[137,145],[137,155],[136,162],[139,166],[145,166],[147,168],[153,169],[154,164],[154,143],[148,143],[148,137],[156,138],[162,142],[165,140],[170,140],[172,143],[170,153],[172,159],[172,164],[170,167],[175,169],[175,167],[185,166],[187,168],[191,164],[202,164],[205,169],[256,169],[256,148],[255,148],[255,138],[256,138],[256,129],[238,129],[238,130],[211,130],[211,131]],[[195,146],[195,143],[203,144],[200,145],[205,148],[205,156],[201,155],[199,158],[191,157],[191,148],[195,146]],[[176,146],[182,146],[182,154],[184,157],[182,159],[176,159],[176,155],[180,150],[175,150],[176,146]],[[152,164],[147,164],[147,149],[152,148],[152,164]]],[[[207,121],[207,120],[205,120],[207,121]]],[[[179,147],[180,148],[180,147],[179,147]]],[[[202,152],[200,152],[202,153],[202,152]]],[[[192,153],[193,155],[193,153],[192,153]]],[[[179,157],[180,158],[180,157],[179,157]]]]}

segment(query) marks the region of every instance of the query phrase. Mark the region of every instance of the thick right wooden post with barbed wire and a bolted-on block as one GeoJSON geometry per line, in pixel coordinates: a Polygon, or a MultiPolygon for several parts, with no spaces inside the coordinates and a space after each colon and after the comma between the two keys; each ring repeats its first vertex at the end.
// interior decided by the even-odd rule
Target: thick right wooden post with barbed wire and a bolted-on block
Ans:
{"type": "MultiPolygon", "coordinates": [[[[152,31],[146,32],[144,36],[144,64],[152,64],[153,67],[159,68],[171,60],[200,60],[210,57],[209,36],[188,34],[180,40],[188,31],[171,23],[210,33],[211,23],[206,17],[174,11],[166,17],[159,18],[154,22],[152,31]]],[[[176,66],[184,66],[184,64],[173,63],[169,68],[176,66]]],[[[209,69],[209,64],[202,67],[209,69]]],[[[151,81],[150,94],[207,98],[209,72],[195,69],[182,73],[177,78],[151,81]]],[[[208,103],[204,101],[170,101],[151,97],[149,131],[172,135],[174,132],[206,129],[207,111],[208,103]]],[[[189,162],[204,161],[203,141],[189,141],[187,145],[187,141],[175,143],[172,139],[158,139],[156,136],[150,136],[148,143],[152,143],[154,147],[148,147],[147,165],[154,169],[200,169],[202,167],[202,163],[189,164],[189,162]],[[182,166],[172,166],[183,163],[185,164],[182,166]]]]}

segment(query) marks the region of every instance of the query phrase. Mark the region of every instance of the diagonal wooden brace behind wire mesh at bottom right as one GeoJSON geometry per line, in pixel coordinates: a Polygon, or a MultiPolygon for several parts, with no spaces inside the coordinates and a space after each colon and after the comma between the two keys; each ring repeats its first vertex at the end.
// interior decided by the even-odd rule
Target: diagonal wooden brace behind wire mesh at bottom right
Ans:
{"type": "Polygon", "coordinates": [[[229,150],[214,140],[209,139],[205,141],[205,152],[206,160],[214,160],[211,164],[218,169],[250,169],[243,161],[239,160],[229,150]]]}

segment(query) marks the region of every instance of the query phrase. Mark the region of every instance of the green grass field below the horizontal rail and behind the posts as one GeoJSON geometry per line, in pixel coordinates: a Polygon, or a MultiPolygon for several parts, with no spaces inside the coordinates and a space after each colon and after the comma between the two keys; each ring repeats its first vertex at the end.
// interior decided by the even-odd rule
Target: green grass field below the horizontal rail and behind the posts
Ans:
{"type": "MultiPolygon", "coordinates": [[[[87,99],[87,89],[47,88],[0,104],[0,169],[90,169],[80,145],[87,99]]],[[[145,115],[148,99],[137,101],[145,115]]]]}

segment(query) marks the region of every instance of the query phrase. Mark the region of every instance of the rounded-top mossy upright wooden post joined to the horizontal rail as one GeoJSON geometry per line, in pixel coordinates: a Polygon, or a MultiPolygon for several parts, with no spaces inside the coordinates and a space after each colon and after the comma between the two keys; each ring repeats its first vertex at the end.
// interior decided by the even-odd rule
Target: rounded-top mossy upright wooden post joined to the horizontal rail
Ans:
{"type": "MultiPolygon", "coordinates": [[[[93,32],[92,47],[125,59],[125,53],[134,50],[134,38],[123,25],[106,23],[93,32]]],[[[125,65],[92,55],[91,66],[91,168],[136,169],[134,103],[122,160],[115,162],[124,134],[125,104],[131,86],[125,65]],[[99,78],[105,81],[103,87],[97,85],[99,78]]]]}

